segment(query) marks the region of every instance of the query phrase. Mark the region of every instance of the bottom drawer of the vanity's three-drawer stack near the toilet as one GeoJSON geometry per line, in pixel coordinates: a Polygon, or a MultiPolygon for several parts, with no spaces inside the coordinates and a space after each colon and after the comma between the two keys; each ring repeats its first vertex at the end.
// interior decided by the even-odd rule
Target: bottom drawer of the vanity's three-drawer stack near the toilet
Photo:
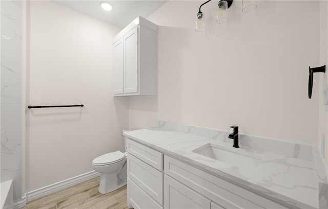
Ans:
{"type": "Polygon", "coordinates": [[[134,209],[163,209],[130,178],[128,178],[128,201],[134,209]]]}

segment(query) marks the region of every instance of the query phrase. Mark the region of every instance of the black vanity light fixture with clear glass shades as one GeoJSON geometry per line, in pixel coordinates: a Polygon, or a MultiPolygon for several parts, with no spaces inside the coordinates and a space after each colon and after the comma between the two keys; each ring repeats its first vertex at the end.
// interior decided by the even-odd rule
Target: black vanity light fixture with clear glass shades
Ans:
{"type": "MultiPolygon", "coordinates": [[[[196,17],[196,32],[203,32],[205,30],[204,14],[200,11],[204,4],[211,2],[209,0],[200,5],[196,17]]],[[[216,9],[216,24],[227,22],[228,8],[232,5],[233,0],[220,0],[216,9]]],[[[242,12],[247,13],[255,10],[257,7],[255,0],[242,0],[242,12]]]]}

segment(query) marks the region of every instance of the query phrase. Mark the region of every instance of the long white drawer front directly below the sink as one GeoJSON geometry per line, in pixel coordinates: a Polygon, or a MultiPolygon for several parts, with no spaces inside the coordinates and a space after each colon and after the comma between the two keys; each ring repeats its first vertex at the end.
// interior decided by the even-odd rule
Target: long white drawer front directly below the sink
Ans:
{"type": "Polygon", "coordinates": [[[165,173],[223,208],[286,208],[193,166],[165,155],[165,173]]]}

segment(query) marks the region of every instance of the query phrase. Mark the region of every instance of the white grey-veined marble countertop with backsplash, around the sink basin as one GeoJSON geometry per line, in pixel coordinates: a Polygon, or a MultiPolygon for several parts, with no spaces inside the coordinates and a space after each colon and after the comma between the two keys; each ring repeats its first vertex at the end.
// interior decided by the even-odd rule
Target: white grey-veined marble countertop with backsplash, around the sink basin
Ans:
{"type": "Polygon", "coordinates": [[[315,146],[239,134],[240,148],[233,148],[227,131],[162,121],[124,135],[288,207],[328,208],[327,172],[315,146]],[[241,168],[193,152],[209,143],[262,161],[241,168]]]}

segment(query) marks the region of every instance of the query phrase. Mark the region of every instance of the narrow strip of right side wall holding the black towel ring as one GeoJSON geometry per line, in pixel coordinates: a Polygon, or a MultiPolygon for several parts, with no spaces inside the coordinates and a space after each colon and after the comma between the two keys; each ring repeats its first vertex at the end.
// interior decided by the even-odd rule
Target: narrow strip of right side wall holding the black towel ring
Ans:
{"type": "MultiPolygon", "coordinates": [[[[328,67],[328,2],[320,1],[320,66],[328,67]]],[[[321,149],[321,137],[324,134],[325,146],[325,164],[328,168],[328,105],[324,105],[324,85],[328,85],[327,69],[325,74],[316,75],[319,77],[319,148],[321,149]]]]}

